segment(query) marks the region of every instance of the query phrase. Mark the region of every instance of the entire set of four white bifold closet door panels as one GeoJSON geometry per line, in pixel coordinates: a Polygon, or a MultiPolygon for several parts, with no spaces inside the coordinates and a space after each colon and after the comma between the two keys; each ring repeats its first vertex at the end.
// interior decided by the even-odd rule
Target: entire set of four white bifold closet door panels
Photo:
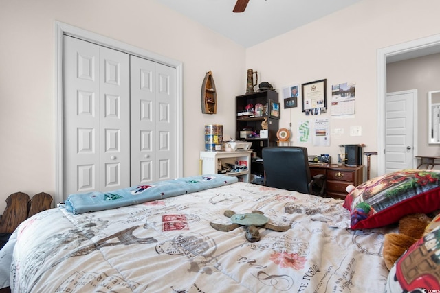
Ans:
{"type": "Polygon", "coordinates": [[[63,91],[65,197],[175,178],[175,69],[64,36],[63,91]]]}

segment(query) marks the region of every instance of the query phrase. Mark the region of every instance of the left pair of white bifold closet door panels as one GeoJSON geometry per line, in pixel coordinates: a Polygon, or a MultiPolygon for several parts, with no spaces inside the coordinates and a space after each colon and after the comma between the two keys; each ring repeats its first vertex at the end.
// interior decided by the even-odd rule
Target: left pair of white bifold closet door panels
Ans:
{"type": "Polygon", "coordinates": [[[65,194],[129,186],[129,55],[63,38],[65,194]]]}

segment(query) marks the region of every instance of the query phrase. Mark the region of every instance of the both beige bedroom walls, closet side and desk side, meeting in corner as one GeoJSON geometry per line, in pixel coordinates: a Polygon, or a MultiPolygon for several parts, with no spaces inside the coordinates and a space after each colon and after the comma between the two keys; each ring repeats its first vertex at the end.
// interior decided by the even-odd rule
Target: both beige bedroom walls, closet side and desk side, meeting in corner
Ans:
{"type": "MultiPolygon", "coordinates": [[[[331,156],[342,143],[366,143],[365,150],[376,150],[377,49],[440,33],[439,8],[437,0],[364,0],[244,49],[155,0],[3,0],[0,211],[14,191],[31,196],[55,191],[54,21],[183,62],[184,176],[190,176],[198,172],[205,124],[223,124],[225,134],[233,135],[234,96],[245,91],[247,69],[259,71],[259,80],[276,89],[322,78],[329,88],[355,82],[355,117],[322,115],[344,134],[331,134],[330,147],[306,146],[311,154],[331,156]],[[217,115],[200,111],[201,81],[209,70],[219,93],[217,115]],[[362,126],[362,137],[349,137],[349,126],[362,126]]],[[[289,128],[291,119],[295,138],[305,115],[300,108],[282,109],[280,127],[289,128]]],[[[296,138],[294,143],[300,144],[296,138]]]]}

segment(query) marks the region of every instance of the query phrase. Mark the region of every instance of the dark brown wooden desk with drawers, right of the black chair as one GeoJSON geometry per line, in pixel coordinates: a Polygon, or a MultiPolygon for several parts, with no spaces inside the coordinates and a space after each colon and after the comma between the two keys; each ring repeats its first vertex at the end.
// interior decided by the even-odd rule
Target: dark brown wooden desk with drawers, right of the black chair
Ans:
{"type": "Polygon", "coordinates": [[[344,165],[309,165],[311,176],[325,174],[327,178],[327,196],[345,199],[349,185],[358,186],[364,182],[364,165],[346,167],[344,165]]]}

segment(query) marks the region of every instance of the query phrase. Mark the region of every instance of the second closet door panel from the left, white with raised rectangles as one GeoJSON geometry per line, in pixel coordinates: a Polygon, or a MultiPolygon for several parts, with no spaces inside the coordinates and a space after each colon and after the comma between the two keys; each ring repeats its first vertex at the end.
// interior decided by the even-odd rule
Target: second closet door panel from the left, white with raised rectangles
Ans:
{"type": "Polygon", "coordinates": [[[100,191],[130,185],[130,56],[100,47],[100,191]]]}

